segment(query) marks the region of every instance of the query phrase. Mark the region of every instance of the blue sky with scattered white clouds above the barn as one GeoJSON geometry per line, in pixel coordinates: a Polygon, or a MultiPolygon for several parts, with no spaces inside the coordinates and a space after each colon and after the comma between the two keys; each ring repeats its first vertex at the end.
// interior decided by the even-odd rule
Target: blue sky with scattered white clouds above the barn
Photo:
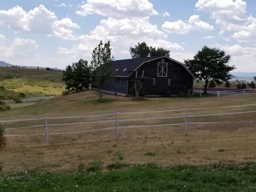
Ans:
{"type": "Polygon", "coordinates": [[[234,72],[256,72],[255,0],[0,0],[0,60],[58,67],[110,40],[115,60],[146,42],[193,59],[204,45],[231,55],[234,72]]]}

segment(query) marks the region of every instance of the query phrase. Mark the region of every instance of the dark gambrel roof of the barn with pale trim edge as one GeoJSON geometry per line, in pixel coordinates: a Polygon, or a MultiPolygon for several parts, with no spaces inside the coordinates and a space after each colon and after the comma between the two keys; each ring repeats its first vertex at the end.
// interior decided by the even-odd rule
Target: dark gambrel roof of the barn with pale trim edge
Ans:
{"type": "Polygon", "coordinates": [[[174,59],[171,59],[167,56],[154,56],[154,57],[145,57],[145,58],[137,58],[137,59],[123,59],[123,60],[116,60],[114,61],[113,65],[113,71],[115,72],[115,76],[117,77],[127,77],[128,71],[136,71],[140,66],[142,66],[144,63],[154,61],[157,59],[166,58],[169,59],[175,63],[178,63],[182,67],[184,67],[188,73],[194,78],[194,75],[191,74],[191,72],[186,68],[186,66],[174,59]]]}

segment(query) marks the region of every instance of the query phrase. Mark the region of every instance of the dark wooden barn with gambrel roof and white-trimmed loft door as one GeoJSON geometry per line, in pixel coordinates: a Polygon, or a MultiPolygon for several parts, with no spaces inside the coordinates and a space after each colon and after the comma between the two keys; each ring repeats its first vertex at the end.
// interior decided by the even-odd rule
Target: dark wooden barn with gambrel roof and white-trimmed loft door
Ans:
{"type": "Polygon", "coordinates": [[[119,95],[133,95],[134,81],[146,77],[141,94],[178,95],[193,90],[194,76],[183,63],[167,56],[116,60],[114,77],[102,90],[119,95]]]}

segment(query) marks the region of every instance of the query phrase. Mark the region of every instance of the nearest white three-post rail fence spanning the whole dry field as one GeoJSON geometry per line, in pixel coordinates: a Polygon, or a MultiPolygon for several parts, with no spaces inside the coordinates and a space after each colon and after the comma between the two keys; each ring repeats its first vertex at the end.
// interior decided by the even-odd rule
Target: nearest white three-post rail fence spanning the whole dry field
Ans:
{"type": "MultiPolygon", "coordinates": [[[[30,125],[30,126],[23,126],[23,127],[5,127],[5,135],[4,137],[34,137],[34,136],[42,136],[45,138],[45,143],[48,143],[48,135],[64,135],[64,134],[74,134],[74,133],[89,133],[89,132],[97,132],[97,131],[103,131],[103,130],[115,130],[115,138],[118,139],[118,130],[119,129],[127,129],[127,128],[139,128],[139,127],[163,127],[163,126],[180,126],[183,125],[183,129],[185,130],[185,135],[188,133],[188,125],[209,125],[209,124],[232,124],[232,123],[253,123],[256,122],[256,116],[251,115],[253,119],[247,119],[247,121],[241,121],[241,122],[235,122],[235,121],[221,121],[218,118],[218,122],[211,121],[211,122],[193,122],[188,121],[188,118],[193,119],[195,117],[207,117],[207,116],[232,116],[232,115],[242,115],[242,114],[255,114],[256,104],[250,104],[250,105],[239,105],[239,106],[227,106],[227,107],[215,107],[215,108],[185,108],[185,109],[174,109],[174,110],[162,110],[162,111],[142,111],[142,112],[131,112],[131,113],[111,113],[111,114],[100,114],[100,115],[85,115],[85,116],[68,116],[68,117],[44,117],[44,118],[33,118],[33,119],[16,119],[16,120],[2,120],[0,123],[6,123],[7,125],[10,123],[17,122],[18,126],[20,126],[20,122],[33,122],[33,121],[42,121],[41,125],[30,125]],[[233,112],[225,112],[225,113],[208,113],[205,114],[205,111],[211,111],[211,110],[230,110],[233,108],[233,112]],[[234,108],[244,108],[243,111],[234,111],[234,108]],[[251,110],[245,110],[246,108],[252,108],[251,110]],[[198,110],[204,110],[203,114],[198,114],[198,110]],[[194,112],[193,112],[194,111],[194,112]],[[196,112],[196,113],[195,113],[196,112]],[[167,115],[164,116],[163,114],[179,114],[179,115],[167,115]],[[191,113],[191,114],[189,114],[191,113]],[[147,115],[146,115],[147,114],[147,115]],[[159,114],[162,116],[156,116],[156,117],[148,117],[149,114],[159,114]],[[125,115],[133,115],[135,118],[124,118],[125,115]],[[146,115],[147,117],[138,118],[139,115],[146,115]],[[122,117],[123,118],[120,118],[122,117]],[[97,121],[99,118],[107,117],[108,119],[105,121],[97,121]],[[137,118],[136,118],[137,117],[137,118]],[[78,119],[83,118],[90,118],[95,119],[96,121],[82,121],[78,122],[78,119]],[[48,123],[49,120],[58,120],[59,123],[48,123]],[[70,122],[70,119],[76,119],[75,122],[70,122]],[[176,119],[176,122],[173,122],[174,119],[176,119]],[[148,122],[154,120],[154,123],[149,124],[148,122]],[[68,123],[65,123],[64,121],[68,121],[68,123]],[[143,122],[144,124],[134,124],[133,122],[143,122]],[[160,122],[155,123],[157,121],[167,121],[167,122],[160,122]],[[121,123],[126,122],[126,124],[119,125],[121,123]],[[112,123],[112,126],[107,127],[108,123],[112,123]],[[90,125],[89,130],[74,130],[74,126],[78,125],[90,125]],[[92,129],[93,126],[101,124],[100,127],[96,127],[95,129],[92,129]],[[61,131],[60,132],[49,132],[49,127],[57,127],[57,126],[73,126],[71,127],[71,130],[68,131],[61,131]],[[44,129],[44,131],[41,129],[44,129]],[[90,129],[91,127],[91,129],[90,129]],[[7,134],[9,131],[15,131],[15,130],[21,130],[21,129],[33,129],[38,128],[41,129],[44,133],[34,133],[34,134],[7,134]]],[[[197,118],[197,119],[204,119],[204,118],[197,118]]],[[[198,121],[198,120],[197,120],[198,121]]],[[[53,130],[52,130],[53,131],[53,130]]]]}

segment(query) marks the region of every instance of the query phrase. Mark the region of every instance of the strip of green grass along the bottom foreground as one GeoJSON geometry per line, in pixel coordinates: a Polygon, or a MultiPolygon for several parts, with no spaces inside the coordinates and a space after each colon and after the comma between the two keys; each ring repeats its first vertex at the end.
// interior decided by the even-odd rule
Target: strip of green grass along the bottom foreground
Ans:
{"type": "Polygon", "coordinates": [[[134,166],[91,173],[27,170],[0,178],[0,191],[255,191],[256,164],[134,166]]]}

